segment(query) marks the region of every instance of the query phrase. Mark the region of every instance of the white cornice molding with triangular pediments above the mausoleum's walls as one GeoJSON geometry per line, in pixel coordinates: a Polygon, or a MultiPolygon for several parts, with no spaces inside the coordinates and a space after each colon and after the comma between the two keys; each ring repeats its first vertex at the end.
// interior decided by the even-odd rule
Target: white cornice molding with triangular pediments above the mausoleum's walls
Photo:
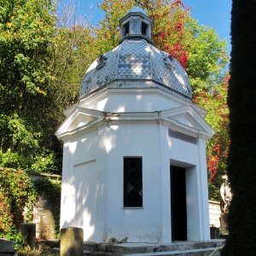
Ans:
{"type": "Polygon", "coordinates": [[[119,125],[133,122],[155,122],[157,125],[166,125],[172,129],[183,132],[192,137],[201,137],[208,139],[212,137],[214,131],[207,125],[207,122],[202,119],[201,114],[197,113],[193,106],[184,106],[180,108],[172,108],[164,111],[154,112],[125,112],[125,113],[110,113],[101,112],[93,109],[78,107],[66,119],[61,127],[56,131],[55,135],[61,141],[66,141],[70,137],[79,137],[80,135],[94,131],[102,125],[119,125]],[[173,117],[189,114],[189,117],[197,124],[195,127],[185,125],[173,117]],[[72,128],[72,124],[76,119],[81,118],[82,115],[90,116],[94,119],[87,124],[72,128]]]}

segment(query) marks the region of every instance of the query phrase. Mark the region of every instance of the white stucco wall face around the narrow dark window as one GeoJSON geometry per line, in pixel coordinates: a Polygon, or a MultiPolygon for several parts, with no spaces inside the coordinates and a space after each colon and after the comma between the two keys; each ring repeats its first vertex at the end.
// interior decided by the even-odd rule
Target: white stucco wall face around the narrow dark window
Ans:
{"type": "Polygon", "coordinates": [[[107,237],[128,241],[157,242],[160,239],[160,154],[155,123],[110,126],[108,138],[107,237]],[[143,157],[143,208],[123,208],[123,158],[143,157]]]}

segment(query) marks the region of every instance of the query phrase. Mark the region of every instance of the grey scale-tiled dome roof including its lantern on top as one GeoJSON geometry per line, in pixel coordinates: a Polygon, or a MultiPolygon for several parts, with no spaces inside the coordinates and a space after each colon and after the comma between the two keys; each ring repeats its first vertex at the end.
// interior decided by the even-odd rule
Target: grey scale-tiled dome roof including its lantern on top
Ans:
{"type": "Polygon", "coordinates": [[[165,87],[191,98],[189,78],[183,67],[171,55],[152,45],[151,25],[146,10],[138,6],[125,14],[120,20],[121,43],[90,65],[81,84],[81,97],[109,86],[140,89],[165,87]],[[146,83],[148,81],[154,83],[146,83]]]}

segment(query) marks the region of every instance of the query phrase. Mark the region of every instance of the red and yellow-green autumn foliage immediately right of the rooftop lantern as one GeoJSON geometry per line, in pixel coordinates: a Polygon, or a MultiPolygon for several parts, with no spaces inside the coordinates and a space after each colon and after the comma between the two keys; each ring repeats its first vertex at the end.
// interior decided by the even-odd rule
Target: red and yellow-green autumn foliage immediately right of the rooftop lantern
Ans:
{"type": "Polygon", "coordinates": [[[154,45],[172,55],[186,68],[188,65],[186,46],[192,36],[188,29],[189,9],[180,0],[171,3],[166,0],[143,0],[142,5],[153,20],[154,45]]]}

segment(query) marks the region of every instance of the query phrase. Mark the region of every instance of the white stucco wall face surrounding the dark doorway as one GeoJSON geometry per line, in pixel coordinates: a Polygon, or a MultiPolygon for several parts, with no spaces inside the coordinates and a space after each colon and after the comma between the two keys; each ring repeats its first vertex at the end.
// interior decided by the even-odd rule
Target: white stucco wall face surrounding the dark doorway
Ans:
{"type": "MultiPolygon", "coordinates": [[[[201,147],[205,147],[205,141],[197,139],[196,144],[186,143],[173,137],[168,137],[168,127],[162,127],[161,138],[161,162],[171,162],[173,166],[180,166],[186,169],[186,194],[187,194],[187,232],[188,240],[208,240],[210,238],[209,217],[208,217],[208,189],[207,189],[207,169],[205,152],[201,147]],[[206,182],[206,184],[205,184],[206,182]]],[[[162,164],[162,188],[168,187],[166,179],[167,172],[170,172],[168,165],[162,164]]],[[[163,205],[168,202],[168,194],[162,195],[163,205]]],[[[171,207],[169,207],[170,209],[171,207]]],[[[168,220],[170,210],[163,212],[163,225],[170,222],[168,220]],[[166,215],[165,215],[166,214],[166,215]]],[[[171,223],[170,223],[171,224],[171,223]]],[[[164,227],[163,227],[164,229],[164,227]]],[[[164,241],[170,238],[165,232],[164,241]],[[165,239],[166,237],[166,239],[165,239]]]]}

